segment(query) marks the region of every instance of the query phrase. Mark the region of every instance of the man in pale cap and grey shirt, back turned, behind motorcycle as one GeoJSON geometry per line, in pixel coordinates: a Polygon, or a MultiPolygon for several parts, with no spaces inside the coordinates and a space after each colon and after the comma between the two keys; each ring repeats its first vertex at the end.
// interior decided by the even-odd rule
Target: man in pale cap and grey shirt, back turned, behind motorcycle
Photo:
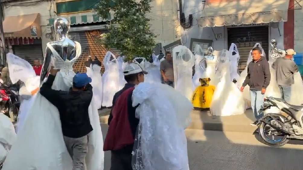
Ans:
{"type": "Polygon", "coordinates": [[[294,73],[299,71],[298,66],[292,60],[293,55],[296,55],[296,52],[293,49],[288,49],[285,57],[278,58],[271,66],[276,70],[276,80],[282,98],[287,102],[291,96],[291,85],[295,83],[294,73]]]}

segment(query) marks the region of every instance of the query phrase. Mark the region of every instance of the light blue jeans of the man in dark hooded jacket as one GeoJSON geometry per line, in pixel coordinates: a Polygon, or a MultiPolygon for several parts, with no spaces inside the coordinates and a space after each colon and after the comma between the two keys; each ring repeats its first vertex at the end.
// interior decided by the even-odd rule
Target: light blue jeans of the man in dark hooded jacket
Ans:
{"type": "Polygon", "coordinates": [[[263,113],[260,113],[260,109],[264,104],[264,94],[261,94],[261,91],[250,90],[250,100],[251,100],[251,109],[255,115],[256,120],[259,120],[263,117],[263,113]]]}

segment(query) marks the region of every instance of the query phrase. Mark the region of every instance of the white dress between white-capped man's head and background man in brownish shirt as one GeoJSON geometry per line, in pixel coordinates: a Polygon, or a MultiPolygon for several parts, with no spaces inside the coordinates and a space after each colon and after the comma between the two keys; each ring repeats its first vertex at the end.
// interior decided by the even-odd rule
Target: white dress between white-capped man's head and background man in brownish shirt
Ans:
{"type": "Polygon", "coordinates": [[[144,76],[144,82],[161,83],[161,73],[160,73],[161,61],[158,59],[158,56],[155,56],[154,53],[152,54],[152,59],[153,59],[153,63],[147,64],[147,68],[145,71],[147,71],[148,74],[144,76]]]}

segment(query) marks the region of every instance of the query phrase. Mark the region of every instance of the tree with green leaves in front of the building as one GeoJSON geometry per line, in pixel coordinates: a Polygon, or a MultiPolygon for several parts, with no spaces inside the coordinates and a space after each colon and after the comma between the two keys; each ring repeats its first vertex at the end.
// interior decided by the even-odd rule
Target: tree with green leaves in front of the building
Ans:
{"type": "Polygon", "coordinates": [[[102,38],[105,47],[121,50],[126,61],[137,56],[151,56],[156,36],[150,30],[150,19],[146,14],[151,10],[152,1],[101,0],[96,10],[102,18],[107,18],[110,11],[115,13],[115,24],[109,26],[109,32],[102,38]]]}

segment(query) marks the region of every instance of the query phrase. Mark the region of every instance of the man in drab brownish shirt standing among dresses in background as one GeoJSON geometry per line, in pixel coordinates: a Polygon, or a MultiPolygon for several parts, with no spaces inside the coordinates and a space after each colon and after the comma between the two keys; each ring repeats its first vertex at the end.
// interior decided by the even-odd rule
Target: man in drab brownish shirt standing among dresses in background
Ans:
{"type": "Polygon", "coordinates": [[[174,66],[173,66],[171,52],[167,51],[165,53],[165,60],[163,60],[160,64],[160,71],[163,80],[162,83],[170,85],[171,87],[175,87],[174,66]]]}

